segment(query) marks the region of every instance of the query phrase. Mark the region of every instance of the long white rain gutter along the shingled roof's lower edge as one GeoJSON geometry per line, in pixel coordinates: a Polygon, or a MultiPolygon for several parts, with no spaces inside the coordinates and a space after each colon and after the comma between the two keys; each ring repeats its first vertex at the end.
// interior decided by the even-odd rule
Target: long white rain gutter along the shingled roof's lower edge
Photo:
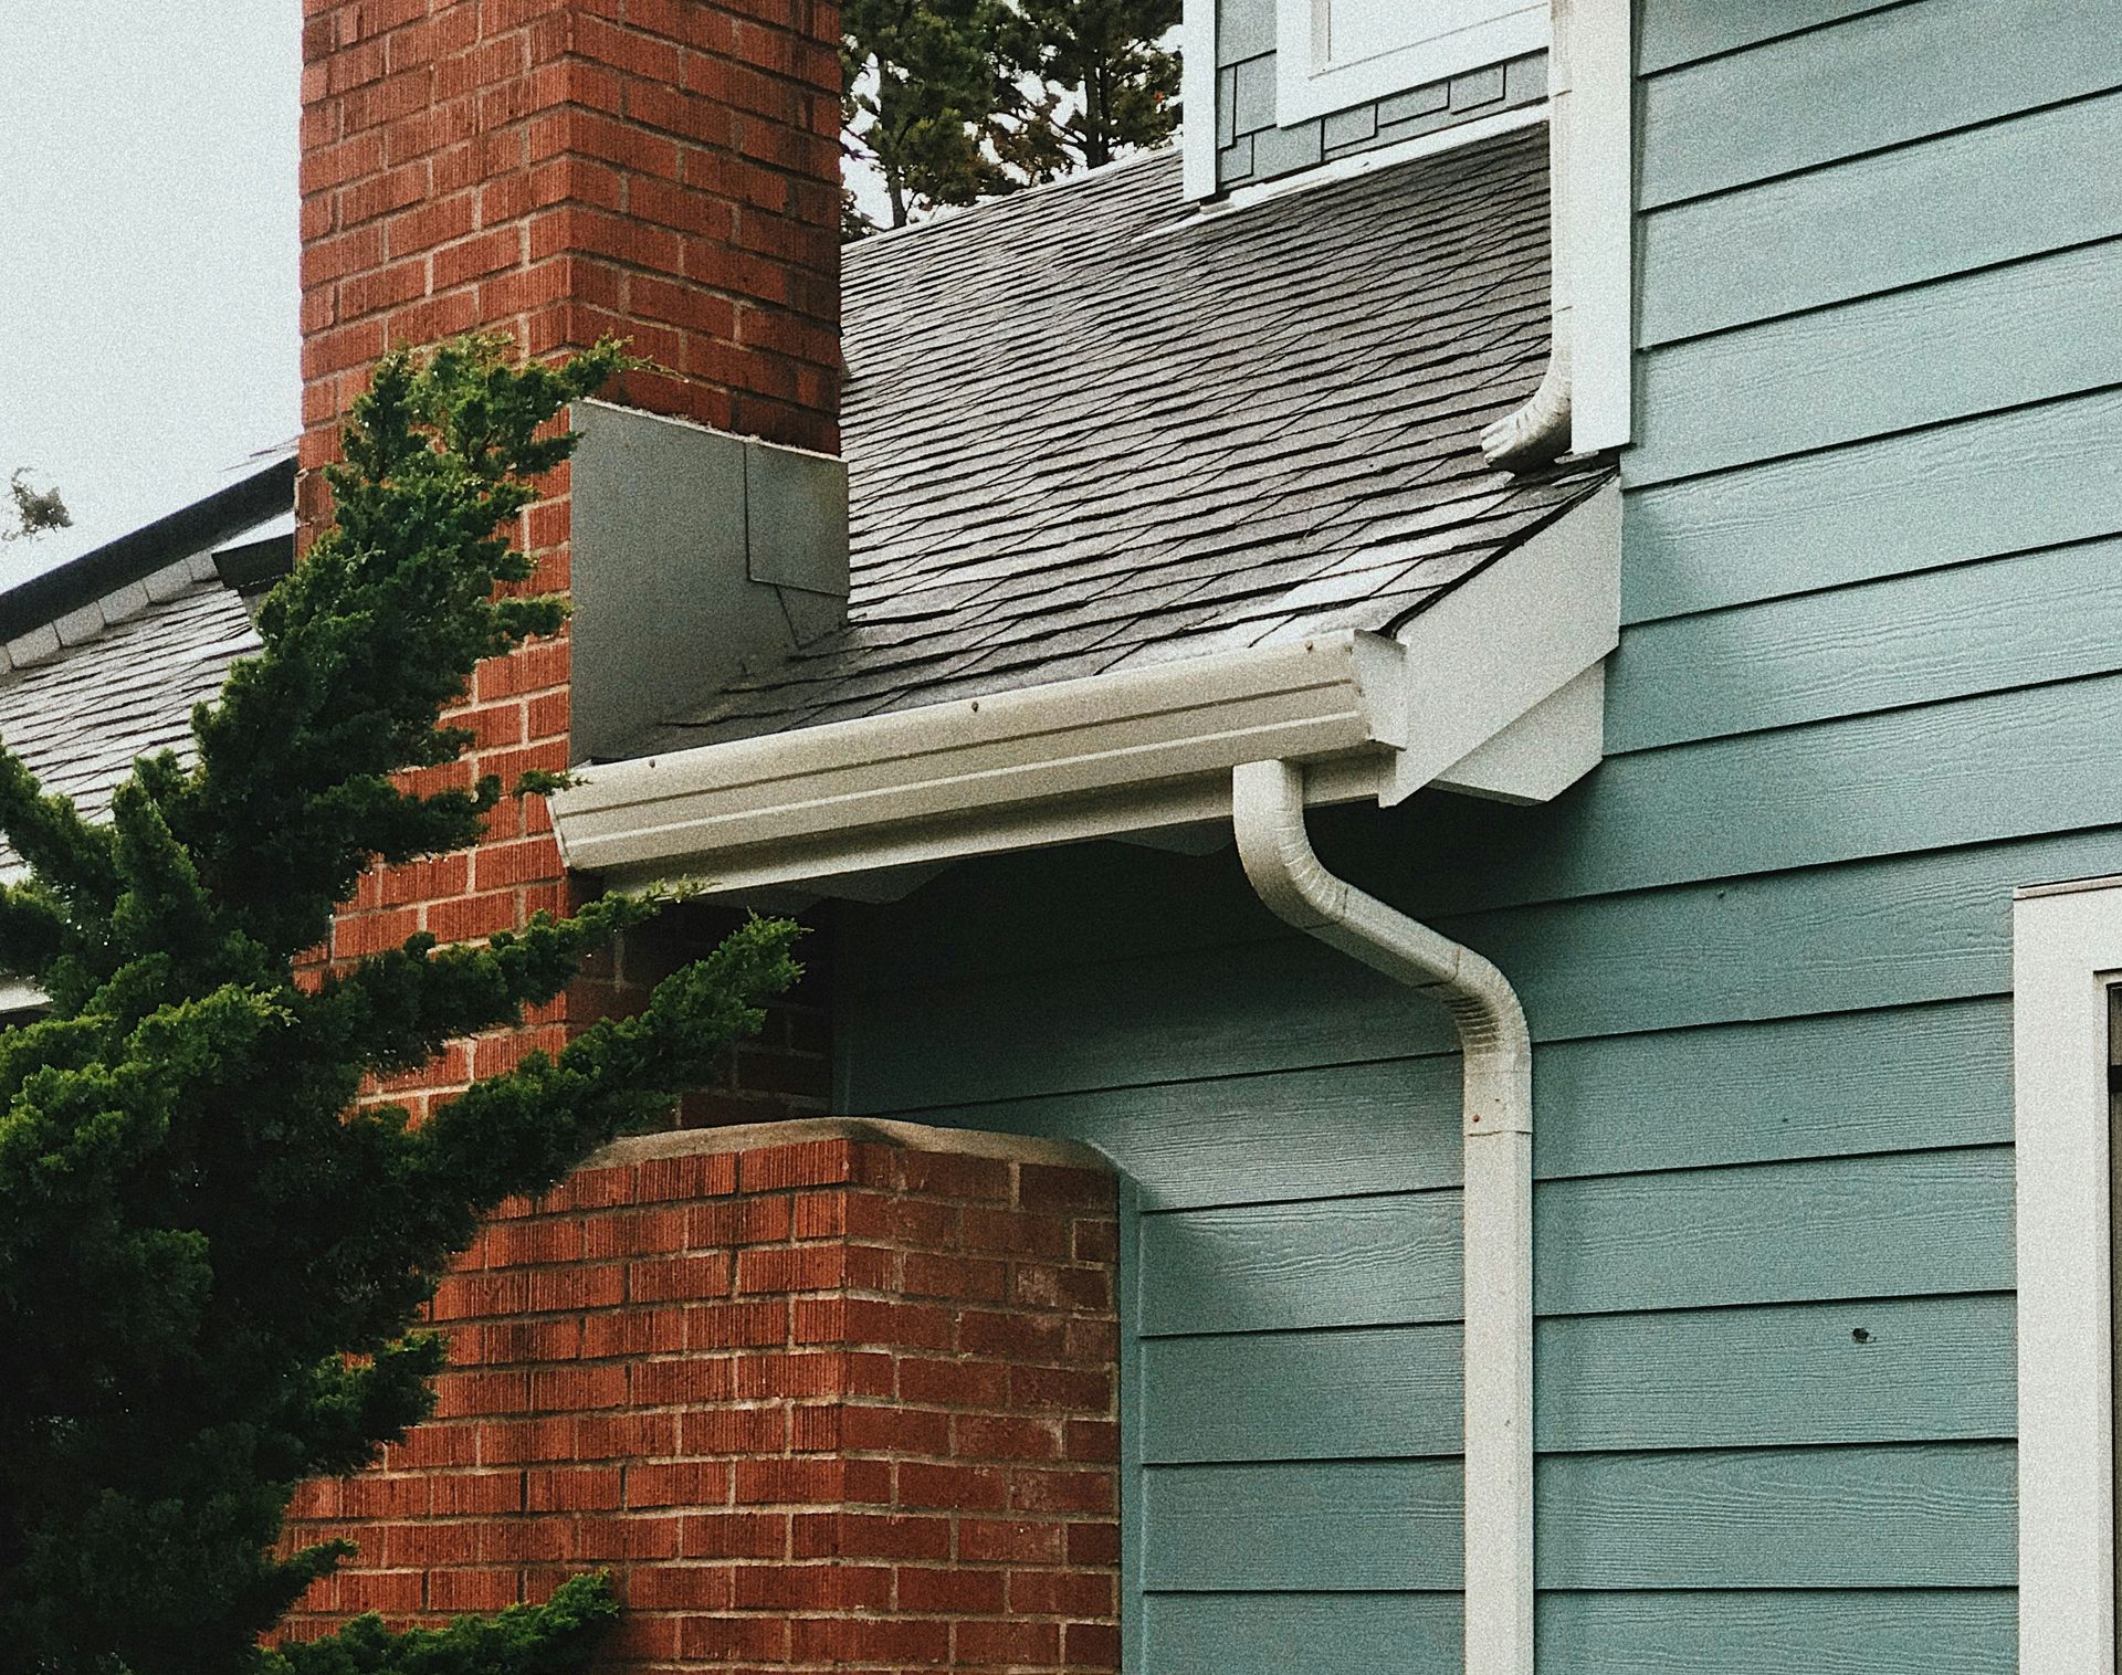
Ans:
{"type": "Polygon", "coordinates": [[[1190,657],[586,768],[552,799],[569,867],[749,891],[1229,818],[1231,768],[1330,761],[1375,795],[1405,740],[1379,634],[1190,657]]]}

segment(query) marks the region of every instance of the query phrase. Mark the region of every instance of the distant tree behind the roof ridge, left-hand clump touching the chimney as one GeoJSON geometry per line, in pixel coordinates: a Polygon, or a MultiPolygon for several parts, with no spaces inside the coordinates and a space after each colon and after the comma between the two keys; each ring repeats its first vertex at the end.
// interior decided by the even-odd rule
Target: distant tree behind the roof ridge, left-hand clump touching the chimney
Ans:
{"type": "MultiPolygon", "coordinates": [[[[1002,0],[845,0],[842,125],[870,161],[891,225],[940,204],[972,204],[1010,180],[985,140],[1004,98],[1002,0]]],[[[847,231],[866,231],[859,212],[847,231]]]]}

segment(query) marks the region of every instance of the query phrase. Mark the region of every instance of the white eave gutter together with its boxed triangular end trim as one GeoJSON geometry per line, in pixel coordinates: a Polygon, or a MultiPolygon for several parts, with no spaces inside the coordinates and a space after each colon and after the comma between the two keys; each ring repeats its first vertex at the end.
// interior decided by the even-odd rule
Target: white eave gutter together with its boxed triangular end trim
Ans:
{"type": "Polygon", "coordinates": [[[1231,770],[1271,757],[1309,765],[1314,804],[1430,782],[1541,801],[1600,755],[1619,528],[1608,483],[1396,638],[1337,630],[584,768],[552,799],[560,850],[613,884],[853,895],[887,869],[1224,823],[1231,770]]]}

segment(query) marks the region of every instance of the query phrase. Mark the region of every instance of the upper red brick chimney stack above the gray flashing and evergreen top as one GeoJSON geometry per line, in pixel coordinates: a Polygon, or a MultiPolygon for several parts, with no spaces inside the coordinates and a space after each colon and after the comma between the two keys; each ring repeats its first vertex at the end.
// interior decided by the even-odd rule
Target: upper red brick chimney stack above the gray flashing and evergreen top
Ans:
{"type": "Polygon", "coordinates": [[[303,466],[388,343],[603,333],[624,399],[836,452],[832,0],[306,0],[303,466]]]}

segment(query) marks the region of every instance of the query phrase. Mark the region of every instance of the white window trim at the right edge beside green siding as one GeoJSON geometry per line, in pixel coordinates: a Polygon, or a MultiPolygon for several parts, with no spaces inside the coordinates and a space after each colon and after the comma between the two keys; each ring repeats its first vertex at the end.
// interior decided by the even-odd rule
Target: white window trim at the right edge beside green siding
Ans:
{"type": "Polygon", "coordinates": [[[2018,1143],[2018,1667],[2111,1675],[2107,984],[2122,878],[2012,903],[2018,1143]]]}

